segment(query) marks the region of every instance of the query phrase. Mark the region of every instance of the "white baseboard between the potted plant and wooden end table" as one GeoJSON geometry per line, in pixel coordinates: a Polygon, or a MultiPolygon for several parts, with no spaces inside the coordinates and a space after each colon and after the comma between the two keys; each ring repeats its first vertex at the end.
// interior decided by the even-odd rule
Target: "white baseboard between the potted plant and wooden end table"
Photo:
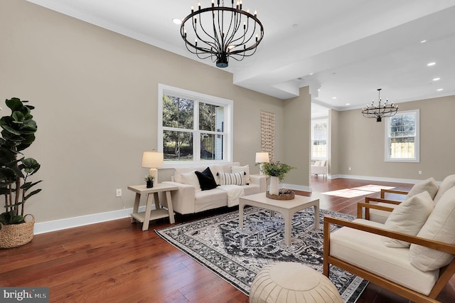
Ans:
{"type": "MultiPolygon", "coordinates": [[[[152,206],[154,209],[155,206],[152,206]]],[[[145,211],[145,206],[139,207],[139,211],[145,211]]],[[[40,233],[50,233],[55,230],[63,230],[67,228],[75,228],[83,225],[90,225],[95,223],[106,222],[110,220],[117,220],[128,218],[129,214],[133,212],[133,208],[121,209],[119,211],[108,211],[106,213],[94,213],[92,215],[65,218],[41,223],[35,223],[33,234],[39,235],[40,233]]]]}

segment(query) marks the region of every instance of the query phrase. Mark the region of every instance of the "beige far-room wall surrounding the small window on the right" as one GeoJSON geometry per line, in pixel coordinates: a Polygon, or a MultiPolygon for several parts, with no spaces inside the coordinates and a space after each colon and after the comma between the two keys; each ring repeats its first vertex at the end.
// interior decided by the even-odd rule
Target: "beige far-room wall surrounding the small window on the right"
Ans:
{"type": "Polygon", "coordinates": [[[399,107],[420,109],[420,162],[385,162],[384,122],[349,110],[338,112],[339,121],[335,121],[339,128],[339,171],[335,174],[411,180],[433,176],[437,181],[455,174],[455,96],[405,102],[399,107]]]}

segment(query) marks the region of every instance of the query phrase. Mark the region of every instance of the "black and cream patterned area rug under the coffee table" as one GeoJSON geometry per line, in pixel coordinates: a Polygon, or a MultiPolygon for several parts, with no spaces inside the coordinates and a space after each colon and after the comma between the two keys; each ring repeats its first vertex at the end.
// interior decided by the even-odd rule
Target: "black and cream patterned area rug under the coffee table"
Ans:
{"type": "MultiPolygon", "coordinates": [[[[353,216],[321,209],[321,226],[323,216],[354,219],[353,216]]],[[[332,225],[332,229],[338,227],[332,225]]],[[[313,208],[294,214],[292,245],[289,246],[283,243],[284,220],[281,214],[275,213],[271,218],[269,211],[255,207],[245,208],[243,228],[239,228],[238,211],[233,211],[156,230],[156,233],[245,294],[249,294],[259,270],[273,262],[301,262],[322,272],[323,230],[314,230],[313,208]]],[[[331,266],[330,279],[343,302],[355,302],[368,284],[334,266],[331,266]]]]}

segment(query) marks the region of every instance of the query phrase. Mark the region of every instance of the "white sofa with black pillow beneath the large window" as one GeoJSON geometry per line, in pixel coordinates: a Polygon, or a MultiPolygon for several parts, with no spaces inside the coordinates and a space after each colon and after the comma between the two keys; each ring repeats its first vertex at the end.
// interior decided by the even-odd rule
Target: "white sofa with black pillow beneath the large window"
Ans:
{"type": "MultiPolygon", "coordinates": [[[[178,191],[171,192],[173,211],[185,215],[188,213],[198,213],[200,211],[228,206],[228,192],[220,189],[223,186],[204,191],[200,189],[194,171],[202,172],[207,169],[207,167],[212,172],[217,184],[220,184],[219,176],[217,176],[219,171],[228,174],[245,171],[246,174],[243,174],[245,185],[239,185],[243,188],[242,196],[249,196],[267,191],[266,176],[250,175],[249,166],[240,166],[239,162],[210,164],[199,167],[178,167],[174,169],[172,181],[163,182],[178,186],[178,191]]],[[[229,185],[228,187],[237,186],[229,185]]],[[[167,206],[167,201],[165,197],[163,198],[163,204],[164,206],[167,206]]]]}

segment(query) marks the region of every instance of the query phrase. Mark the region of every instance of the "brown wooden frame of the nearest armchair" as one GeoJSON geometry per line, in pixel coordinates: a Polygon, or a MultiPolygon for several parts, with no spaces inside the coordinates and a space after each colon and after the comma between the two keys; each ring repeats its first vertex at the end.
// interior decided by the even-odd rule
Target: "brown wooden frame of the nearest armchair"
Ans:
{"type": "MultiPolygon", "coordinates": [[[[371,206],[373,206],[373,205],[371,205],[371,206]]],[[[382,228],[375,228],[370,225],[364,225],[364,224],[360,224],[360,223],[350,222],[348,220],[324,217],[323,275],[326,275],[326,277],[328,277],[330,265],[335,265],[343,270],[347,270],[348,272],[353,273],[354,275],[358,275],[359,277],[362,277],[365,280],[373,282],[376,285],[379,285],[380,287],[389,289],[392,292],[400,294],[402,297],[410,299],[414,302],[438,302],[436,299],[437,295],[439,294],[439,292],[441,292],[441,290],[444,288],[444,286],[447,284],[447,282],[449,282],[452,275],[454,275],[454,273],[455,273],[455,259],[454,259],[454,260],[452,260],[452,262],[449,265],[442,267],[439,270],[439,278],[428,296],[426,296],[425,294],[421,294],[419,292],[415,292],[412,289],[409,289],[409,288],[399,285],[395,282],[387,280],[385,277],[375,275],[373,272],[368,272],[368,270],[365,270],[363,268],[352,265],[349,262],[346,262],[346,261],[340,260],[336,257],[333,257],[330,254],[330,235],[331,235],[330,224],[337,224],[337,225],[342,225],[342,226],[346,226],[349,228],[355,228],[357,230],[363,230],[367,233],[375,233],[377,235],[384,235],[389,238],[395,238],[398,240],[415,243],[418,245],[425,246],[427,248],[433,248],[435,250],[449,252],[452,255],[455,255],[455,245],[450,245],[447,243],[442,243],[442,242],[438,242],[438,241],[434,241],[434,240],[428,240],[425,238],[418,238],[418,237],[415,237],[412,235],[407,235],[405,233],[396,233],[396,232],[393,232],[390,230],[385,230],[382,228]]]]}

